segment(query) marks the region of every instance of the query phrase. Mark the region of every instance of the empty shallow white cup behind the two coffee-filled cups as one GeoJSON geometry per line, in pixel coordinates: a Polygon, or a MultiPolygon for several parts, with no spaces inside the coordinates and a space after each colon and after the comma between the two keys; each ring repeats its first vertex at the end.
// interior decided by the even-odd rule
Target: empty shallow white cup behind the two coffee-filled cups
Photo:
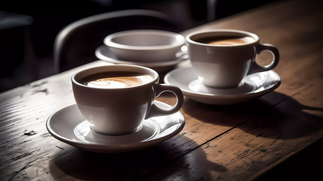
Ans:
{"type": "Polygon", "coordinates": [[[185,38],[167,31],[130,30],[106,36],[103,42],[119,60],[151,62],[174,60],[185,38]]]}

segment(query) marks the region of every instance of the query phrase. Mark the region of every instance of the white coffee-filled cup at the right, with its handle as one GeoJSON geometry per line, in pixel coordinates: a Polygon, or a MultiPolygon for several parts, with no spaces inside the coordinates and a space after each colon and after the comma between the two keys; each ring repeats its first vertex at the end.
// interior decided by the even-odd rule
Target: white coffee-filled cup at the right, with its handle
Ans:
{"type": "Polygon", "coordinates": [[[200,81],[210,87],[229,88],[242,85],[243,78],[251,73],[271,70],[278,64],[279,52],[271,44],[260,44],[259,37],[240,30],[202,30],[186,36],[188,55],[200,81]],[[249,37],[249,41],[236,45],[212,45],[208,38],[249,37]],[[255,62],[256,55],[269,51],[273,60],[269,65],[260,66],[255,62]]]}

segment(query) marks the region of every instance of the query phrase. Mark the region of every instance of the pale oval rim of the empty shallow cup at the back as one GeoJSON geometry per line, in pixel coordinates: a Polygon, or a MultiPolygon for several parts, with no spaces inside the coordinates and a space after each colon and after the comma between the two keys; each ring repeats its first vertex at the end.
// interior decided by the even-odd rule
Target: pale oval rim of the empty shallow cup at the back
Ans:
{"type": "Polygon", "coordinates": [[[128,31],[121,31],[121,32],[110,34],[104,38],[103,42],[106,46],[114,47],[114,48],[122,48],[122,49],[130,49],[130,50],[158,50],[158,49],[169,49],[169,48],[175,48],[178,46],[183,46],[185,44],[185,38],[178,33],[162,31],[162,30],[128,30],[128,31]],[[142,34],[162,35],[165,37],[172,37],[176,41],[168,45],[155,45],[155,46],[125,45],[125,44],[120,44],[113,41],[113,39],[116,37],[122,37],[122,36],[128,36],[128,35],[142,35],[142,34]]]}

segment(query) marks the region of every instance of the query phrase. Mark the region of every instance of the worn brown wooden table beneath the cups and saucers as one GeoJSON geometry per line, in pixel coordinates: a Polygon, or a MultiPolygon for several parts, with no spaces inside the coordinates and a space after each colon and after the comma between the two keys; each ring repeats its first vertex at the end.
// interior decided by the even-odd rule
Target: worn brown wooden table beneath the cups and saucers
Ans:
{"type": "MultiPolygon", "coordinates": [[[[186,124],[154,147],[122,154],[82,151],[52,137],[47,118],[74,103],[70,77],[95,61],[0,94],[0,180],[246,180],[323,135],[322,3],[277,2],[199,29],[230,28],[274,44],[282,83],[247,103],[213,106],[185,98],[186,124]],[[26,135],[25,133],[31,133],[26,135]]],[[[264,63],[266,54],[259,56],[264,63]]],[[[173,97],[161,96],[167,104],[173,97]]]]}

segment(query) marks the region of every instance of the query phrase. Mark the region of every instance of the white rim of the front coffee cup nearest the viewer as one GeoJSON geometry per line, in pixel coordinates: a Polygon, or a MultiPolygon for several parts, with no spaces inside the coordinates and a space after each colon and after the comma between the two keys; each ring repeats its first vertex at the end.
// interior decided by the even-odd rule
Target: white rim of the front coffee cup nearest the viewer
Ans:
{"type": "Polygon", "coordinates": [[[72,83],[74,83],[75,85],[78,85],[78,86],[81,86],[81,87],[90,88],[90,89],[106,89],[106,90],[113,90],[113,89],[131,89],[131,88],[146,86],[147,84],[150,84],[150,83],[153,83],[153,82],[158,81],[159,74],[155,70],[153,70],[151,68],[144,67],[144,66],[128,65],[128,64],[118,64],[118,65],[116,65],[115,64],[115,65],[95,66],[95,67],[90,67],[90,68],[86,68],[86,69],[80,70],[80,71],[74,73],[72,75],[72,78],[71,79],[72,79],[72,83]],[[110,70],[107,70],[105,67],[114,67],[114,68],[112,68],[110,70]],[[126,69],[125,67],[128,67],[128,69],[126,69]],[[92,72],[92,73],[87,73],[87,74],[85,73],[87,71],[91,71],[91,70],[94,70],[94,69],[101,69],[102,71],[97,71],[97,72],[92,72]],[[79,79],[81,79],[81,78],[83,78],[83,77],[85,77],[87,75],[90,75],[90,74],[95,74],[95,73],[100,73],[100,72],[107,72],[107,71],[133,71],[133,72],[138,72],[138,73],[146,73],[146,74],[152,75],[153,76],[153,79],[151,81],[145,82],[145,83],[140,84],[140,85],[130,86],[130,87],[117,87],[117,88],[90,87],[90,86],[86,86],[86,85],[84,85],[84,84],[82,84],[82,83],[80,83],[80,82],[78,82],[76,80],[76,79],[79,80],[79,79]],[[149,73],[147,73],[147,72],[149,72],[149,73]],[[77,78],[77,76],[79,74],[82,74],[82,73],[85,73],[85,75],[82,75],[81,78],[77,78]]]}

